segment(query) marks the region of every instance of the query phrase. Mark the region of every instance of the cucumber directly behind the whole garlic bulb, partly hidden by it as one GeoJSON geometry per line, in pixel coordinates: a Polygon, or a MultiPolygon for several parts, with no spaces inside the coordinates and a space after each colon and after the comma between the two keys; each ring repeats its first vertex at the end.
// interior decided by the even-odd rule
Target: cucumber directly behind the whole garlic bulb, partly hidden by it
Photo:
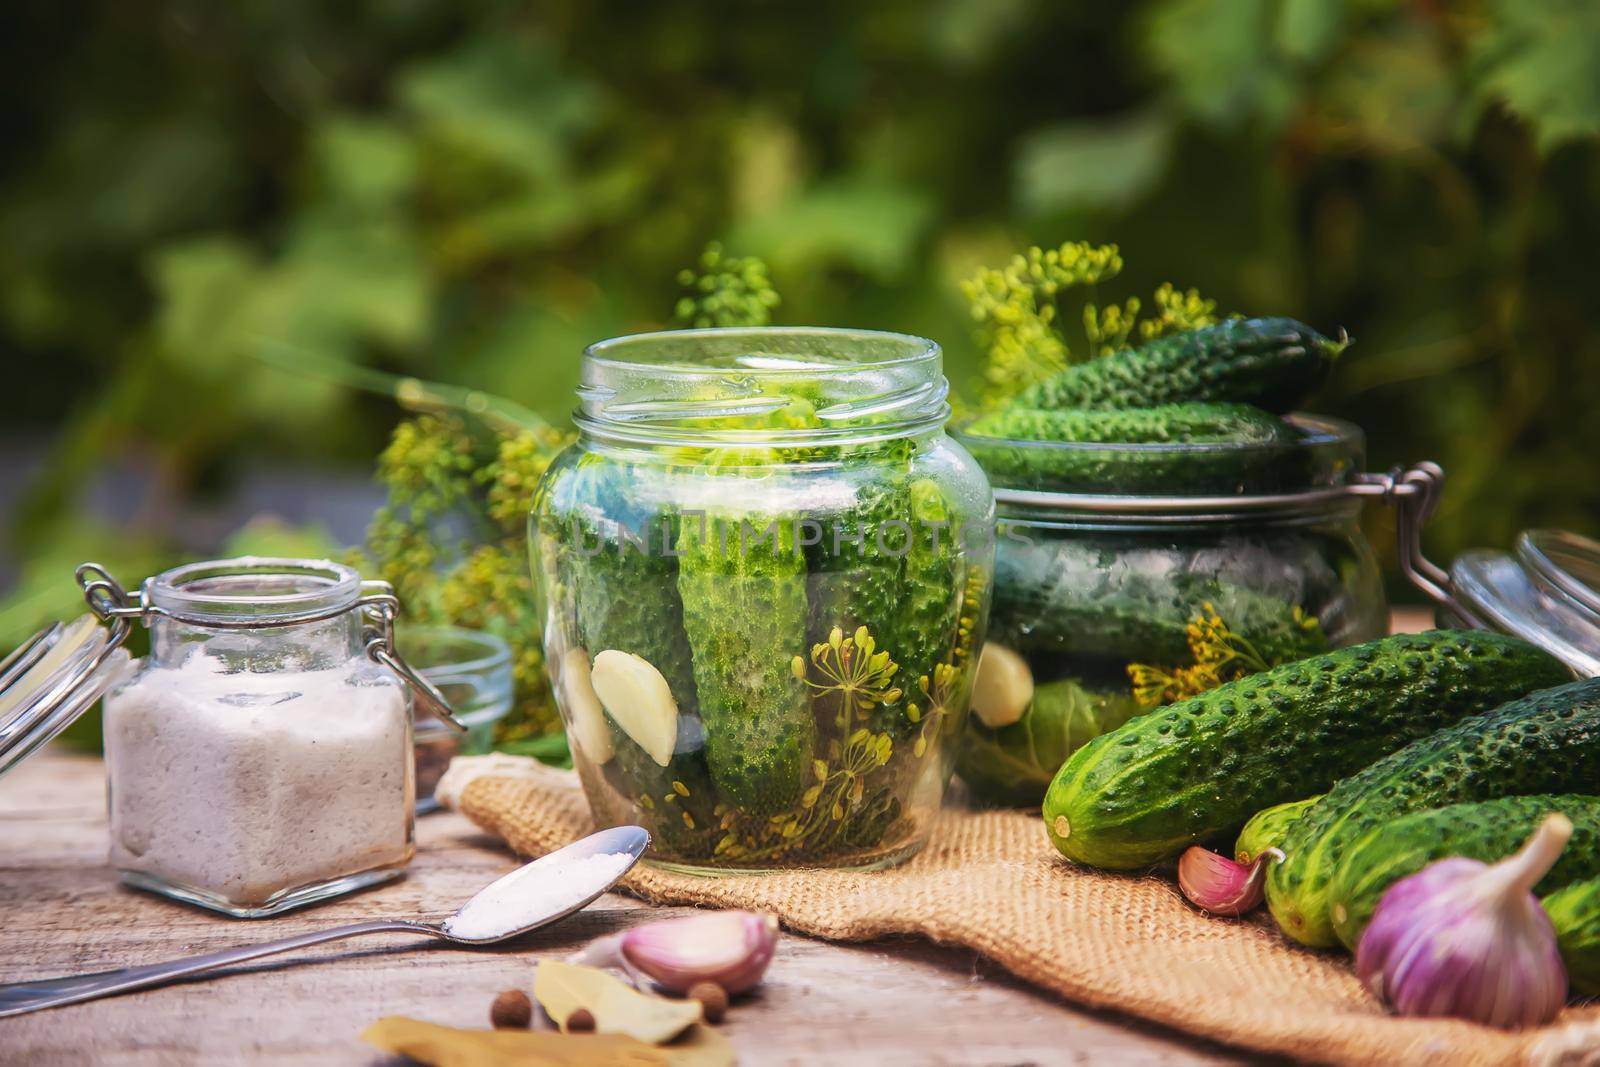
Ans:
{"type": "Polygon", "coordinates": [[[1573,837],[1533,891],[1542,896],[1600,875],[1600,797],[1501,797],[1416,811],[1373,827],[1344,851],[1328,883],[1334,934],[1354,950],[1389,886],[1446,856],[1504,859],[1552,811],[1571,819],[1573,837]]]}

